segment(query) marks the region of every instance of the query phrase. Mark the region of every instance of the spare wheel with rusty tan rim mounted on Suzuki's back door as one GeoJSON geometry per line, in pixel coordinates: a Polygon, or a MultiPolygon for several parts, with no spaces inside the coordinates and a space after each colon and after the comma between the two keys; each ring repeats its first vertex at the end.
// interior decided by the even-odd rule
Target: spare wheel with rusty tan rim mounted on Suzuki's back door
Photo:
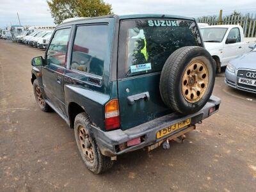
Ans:
{"type": "Polygon", "coordinates": [[[164,63],[160,93],[164,104],[182,114],[196,113],[211,97],[216,64],[203,47],[177,49],[164,63]]]}

